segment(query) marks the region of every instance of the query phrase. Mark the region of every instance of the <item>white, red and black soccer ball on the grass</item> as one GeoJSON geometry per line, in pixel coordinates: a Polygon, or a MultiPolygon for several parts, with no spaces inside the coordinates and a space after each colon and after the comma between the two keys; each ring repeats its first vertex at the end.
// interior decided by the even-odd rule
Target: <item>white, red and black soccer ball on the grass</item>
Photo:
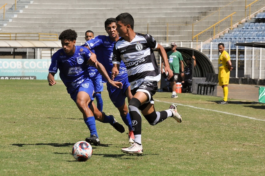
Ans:
{"type": "Polygon", "coordinates": [[[92,155],[93,149],[86,141],[79,141],[75,143],[72,148],[72,155],[77,161],[86,161],[92,155]]]}

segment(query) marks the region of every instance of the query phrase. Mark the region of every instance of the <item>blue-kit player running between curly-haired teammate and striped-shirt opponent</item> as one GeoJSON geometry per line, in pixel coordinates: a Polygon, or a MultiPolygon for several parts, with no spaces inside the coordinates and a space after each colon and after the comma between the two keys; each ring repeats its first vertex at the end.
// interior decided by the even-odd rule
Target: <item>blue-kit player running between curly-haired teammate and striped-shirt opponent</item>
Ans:
{"type": "MultiPolygon", "coordinates": [[[[116,41],[119,40],[116,27],[116,19],[108,18],[105,21],[105,30],[108,33],[108,36],[99,35],[86,42],[86,45],[90,50],[94,49],[97,60],[99,60],[99,62],[106,68],[109,76],[111,76],[111,70],[113,67],[112,50],[116,41]]],[[[102,80],[104,81],[104,78],[102,78],[102,80]]],[[[109,97],[115,107],[119,110],[121,119],[128,126],[129,143],[132,144],[134,142],[134,135],[132,132],[131,118],[125,102],[126,97],[128,98],[128,102],[131,100],[132,94],[130,92],[127,70],[123,62],[120,64],[119,74],[115,77],[114,81],[122,82],[123,87],[122,89],[118,89],[117,87],[107,83],[109,97]]]]}

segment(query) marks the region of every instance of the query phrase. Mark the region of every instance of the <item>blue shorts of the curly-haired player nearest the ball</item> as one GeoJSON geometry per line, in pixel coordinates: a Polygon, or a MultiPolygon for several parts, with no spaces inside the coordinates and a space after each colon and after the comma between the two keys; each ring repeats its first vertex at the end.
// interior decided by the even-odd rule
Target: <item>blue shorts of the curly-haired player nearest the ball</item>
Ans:
{"type": "Polygon", "coordinates": [[[77,93],[80,91],[84,91],[84,92],[88,93],[91,101],[94,100],[94,98],[92,97],[93,91],[94,91],[94,85],[90,79],[87,78],[86,80],[84,80],[72,93],[70,93],[70,96],[71,96],[72,100],[75,101],[75,103],[76,103],[77,93]]]}

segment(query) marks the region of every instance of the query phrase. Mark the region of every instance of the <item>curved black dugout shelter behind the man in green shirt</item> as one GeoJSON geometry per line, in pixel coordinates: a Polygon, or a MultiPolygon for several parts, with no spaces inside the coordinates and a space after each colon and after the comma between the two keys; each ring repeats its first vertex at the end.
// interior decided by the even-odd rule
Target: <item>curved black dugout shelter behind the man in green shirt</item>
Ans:
{"type": "MultiPolygon", "coordinates": [[[[166,52],[171,50],[171,47],[165,47],[166,52]]],[[[191,58],[193,55],[196,58],[196,66],[194,67],[194,77],[206,77],[206,73],[214,73],[215,70],[213,64],[210,62],[209,58],[205,56],[202,52],[196,49],[177,47],[177,51],[182,54],[184,60],[184,67],[186,67],[187,58],[191,58]]]]}

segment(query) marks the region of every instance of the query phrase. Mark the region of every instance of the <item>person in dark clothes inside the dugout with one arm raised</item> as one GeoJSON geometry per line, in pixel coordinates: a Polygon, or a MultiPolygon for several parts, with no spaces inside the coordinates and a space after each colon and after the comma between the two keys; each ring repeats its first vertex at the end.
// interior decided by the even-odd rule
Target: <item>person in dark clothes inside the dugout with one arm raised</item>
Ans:
{"type": "Polygon", "coordinates": [[[187,66],[184,68],[184,78],[181,82],[181,92],[182,93],[191,93],[191,87],[192,87],[192,61],[194,60],[194,67],[196,65],[196,59],[195,56],[192,56],[192,58],[187,58],[187,66]]]}

